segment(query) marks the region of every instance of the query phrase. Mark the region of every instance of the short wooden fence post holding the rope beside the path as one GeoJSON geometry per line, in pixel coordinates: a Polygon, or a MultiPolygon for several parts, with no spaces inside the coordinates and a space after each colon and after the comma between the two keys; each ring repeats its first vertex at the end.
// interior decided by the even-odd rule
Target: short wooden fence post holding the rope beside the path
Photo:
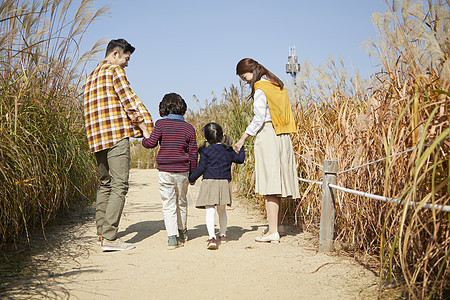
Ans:
{"type": "Polygon", "coordinates": [[[333,249],[335,191],[328,184],[336,184],[337,161],[323,163],[322,209],[320,212],[319,252],[333,249]]]}

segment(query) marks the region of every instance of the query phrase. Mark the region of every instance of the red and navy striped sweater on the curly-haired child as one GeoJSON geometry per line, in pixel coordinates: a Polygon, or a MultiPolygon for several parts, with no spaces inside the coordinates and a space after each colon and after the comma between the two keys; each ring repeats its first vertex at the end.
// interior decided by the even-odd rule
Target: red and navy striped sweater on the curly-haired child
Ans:
{"type": "Polygon", "coordinates": [[[158,170],[191,173],[197,167],[197,140],[191,124],[170,118],[156,121],[150,137],[142,140],[142,146],[155,148],[158,144],[158,170]]]}

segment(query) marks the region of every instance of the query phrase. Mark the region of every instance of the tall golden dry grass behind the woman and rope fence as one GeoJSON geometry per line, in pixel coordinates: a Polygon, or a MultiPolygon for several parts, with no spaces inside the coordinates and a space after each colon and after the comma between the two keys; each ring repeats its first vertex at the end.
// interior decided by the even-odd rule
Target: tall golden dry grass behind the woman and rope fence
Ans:
{"type": "MultiPolygon", "coordinates": [[[[450,13],[448,1],[387,2],[373,22],[379,40],[369,42],[380,72],[370,79],[350,75],[330,58],[302,65],[294,100],[298,132],[293,144],[299,176],[320,181],[325,159],[338,161],[340,186],[402,200],[381,202],[337,192],[337,248],[378,266],[380,290],[396,286],[409,298],[449,296],[449,214],[425,203],[449,203],[450,13]],[[391,155],[412,149],[401,155],[391,155]],[[411,203],[418,203],[411,206],[411,203]]],[[[236,140],[249,123],[248,90],[231,87],[191,122],[199,130],[216,121],[236,140]]],[[[201,138],[199,138],[201,140],[201,138]]],[[[240,190],[253,197],[252,142],[247,161],[235,169],[240,190]]],[[[321,187],[300,184],[302,197],[286,203],[286,217],[317,231],[321,187]]],[[[260,201],[263,206],[263,201],[260,201]]]]}

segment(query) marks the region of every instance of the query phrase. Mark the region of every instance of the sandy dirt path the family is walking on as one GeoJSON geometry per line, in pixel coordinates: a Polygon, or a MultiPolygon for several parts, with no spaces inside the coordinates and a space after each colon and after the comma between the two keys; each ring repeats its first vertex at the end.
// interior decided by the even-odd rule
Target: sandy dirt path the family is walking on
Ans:
{"type": "MultiPolygon", "coordinates": [[[[95,244],[94,223],[78,227],[61,245],[67,255],[55,256],[58,271],[42,281],[45,288],[36,298],[376,298],[372,272],[350,259],[317,253],[317,239],[308,233],[288,228],[280,244],[256,243],[266,223],[239,201],[227,211],[230,241],[207,250],[204,211],[193,206],[199,182],[189,190],[189,241],[167,250],[157,171],[133,169],[130,184],[119,237],[136,249],[104,253],[95,244]]],[[[20,287],[13,294],[20,295],[20,287]]]]}

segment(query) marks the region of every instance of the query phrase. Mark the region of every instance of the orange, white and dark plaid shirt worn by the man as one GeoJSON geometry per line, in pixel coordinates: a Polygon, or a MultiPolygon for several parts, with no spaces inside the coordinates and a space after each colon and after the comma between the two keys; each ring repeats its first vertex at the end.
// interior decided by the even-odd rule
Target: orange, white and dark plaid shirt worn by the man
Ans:
{"type": "Polygon", "coordinates": [[[111,148],[126,137],[140,138],[135,126],[144,121],[153,130],[150,113],[130,87],[121,66],[104,60],[92,71],[83,87],[84,116],[91,152],[111,148]]]}

